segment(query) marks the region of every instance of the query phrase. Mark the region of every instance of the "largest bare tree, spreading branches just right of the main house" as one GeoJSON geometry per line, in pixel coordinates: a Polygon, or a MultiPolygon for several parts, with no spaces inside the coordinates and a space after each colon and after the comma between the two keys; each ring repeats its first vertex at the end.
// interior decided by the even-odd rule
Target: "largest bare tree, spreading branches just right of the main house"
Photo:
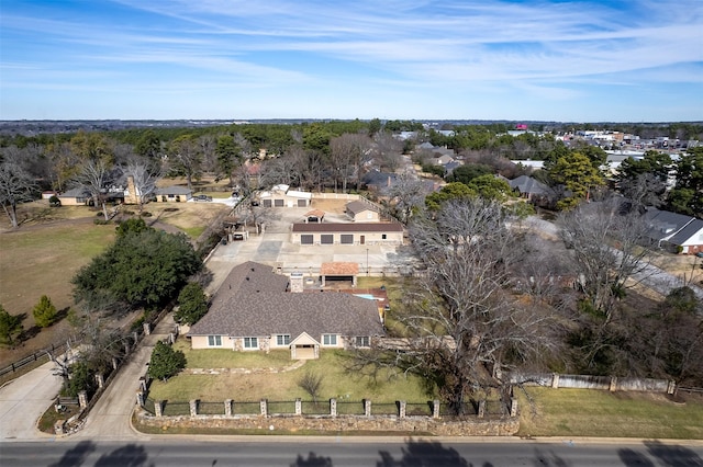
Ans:
{"type": "Polygon", "coordinates": [[[467,398],[504,388],[504,369],[551,345],[550,314],[512,294],[522,236],[505,220],[500,204],[481,198],[413,217],[409,231],[426,274],[395,317],[404,344],[371,356],[372,367],[421,375],[455,414],[466,412],[467,398]]]}

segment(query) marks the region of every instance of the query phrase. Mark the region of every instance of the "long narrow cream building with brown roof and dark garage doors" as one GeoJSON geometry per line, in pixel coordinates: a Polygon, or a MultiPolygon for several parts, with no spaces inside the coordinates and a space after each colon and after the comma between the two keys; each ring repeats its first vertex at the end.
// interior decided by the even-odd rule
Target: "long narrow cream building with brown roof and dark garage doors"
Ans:
{"type": "Polygon", "coordinates": [[[293,224],[293,244],[402,244],[400,223],[293,224]]]}

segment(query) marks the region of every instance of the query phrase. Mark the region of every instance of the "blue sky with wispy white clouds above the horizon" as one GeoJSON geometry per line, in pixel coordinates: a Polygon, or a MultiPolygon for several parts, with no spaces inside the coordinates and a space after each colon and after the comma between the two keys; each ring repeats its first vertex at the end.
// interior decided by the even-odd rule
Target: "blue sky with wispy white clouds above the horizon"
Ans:
{"type": "Polygon", "coordinates": [[[2,0],[0,119],[703,121],[703,0],[2,0]]]}

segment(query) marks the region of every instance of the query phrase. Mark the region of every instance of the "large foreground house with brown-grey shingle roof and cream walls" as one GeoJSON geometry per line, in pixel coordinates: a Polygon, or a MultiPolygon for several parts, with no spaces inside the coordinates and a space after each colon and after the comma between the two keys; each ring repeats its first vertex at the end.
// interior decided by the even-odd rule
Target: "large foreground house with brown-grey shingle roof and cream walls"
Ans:
{"type": "Polygon", "coordinates": [[[286,275],[253,261],[235,266],[210,310],[188,331],[192,349],[290,350],[316,358],[321,349],[369,348],[383,335],[375,300],[338,292],[294,293],[286,275]]]}

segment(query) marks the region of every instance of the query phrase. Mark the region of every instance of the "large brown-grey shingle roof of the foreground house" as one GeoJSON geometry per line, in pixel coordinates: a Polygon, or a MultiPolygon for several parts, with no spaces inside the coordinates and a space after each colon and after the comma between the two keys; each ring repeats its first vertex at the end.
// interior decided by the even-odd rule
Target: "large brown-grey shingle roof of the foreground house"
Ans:
{"type": "Polygon", "coordinates": [[[275,274],[270,266],[244,263],[230,273],[210,311],[190,328],[189,334],[290,334],[295,339],[306,332],[317,340],[323,333],[383,334],[375,300],[338,292],[283,292],[287,286],[288,277],[275,274]]]}

